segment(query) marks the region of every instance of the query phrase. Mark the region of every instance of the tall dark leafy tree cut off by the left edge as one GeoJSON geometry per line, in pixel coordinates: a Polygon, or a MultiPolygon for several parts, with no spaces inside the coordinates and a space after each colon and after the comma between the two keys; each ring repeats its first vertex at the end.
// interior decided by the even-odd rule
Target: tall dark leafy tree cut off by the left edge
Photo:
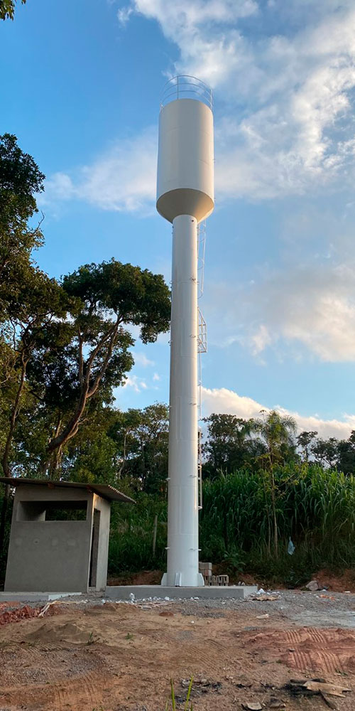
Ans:
{"type": "MultiPolygon", "coordinates": [[[[11,16],[13,3],[2,2],[0,17],[11,16]]],[[[37,211],[35,193],[43,190],[43,173],[33,158],[18,147],[16,136],[0,136],[0,371],[2,429],[1,459],[4,474],[9,476],[9,451],[16,427],[26,375],[26,355],[19,358],[18,311],[24,311],[31,292],[28,283],[35,278],[31,251],[42,242],[39,226],[30,228],[28,220],[37,211]],[[12,336],[12,342],[10,340],[12,336]]],[[[9,486],[1,511],[0,545],[4,542],[9,486]]]]}

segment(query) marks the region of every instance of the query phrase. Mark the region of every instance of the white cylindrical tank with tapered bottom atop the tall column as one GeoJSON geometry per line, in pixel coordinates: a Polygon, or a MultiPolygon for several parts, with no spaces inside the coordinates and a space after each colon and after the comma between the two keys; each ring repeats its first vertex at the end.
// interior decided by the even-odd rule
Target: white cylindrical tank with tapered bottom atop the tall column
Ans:
{"type": "Polygon", "coordinates": [[[158,213],[204,220],[214,208],[213,116],[205,103],[171,101],[160,111],[158,213]]]}

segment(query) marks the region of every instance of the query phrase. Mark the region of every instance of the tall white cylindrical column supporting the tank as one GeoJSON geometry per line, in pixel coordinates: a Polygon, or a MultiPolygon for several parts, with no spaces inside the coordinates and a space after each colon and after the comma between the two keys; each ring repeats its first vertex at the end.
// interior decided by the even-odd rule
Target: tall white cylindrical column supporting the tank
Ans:
{"type": "Polygon", "coordinates": [[[173,220],[168,568],[163,584],[203,585],[197,481],[197,220],[173,220]]]}

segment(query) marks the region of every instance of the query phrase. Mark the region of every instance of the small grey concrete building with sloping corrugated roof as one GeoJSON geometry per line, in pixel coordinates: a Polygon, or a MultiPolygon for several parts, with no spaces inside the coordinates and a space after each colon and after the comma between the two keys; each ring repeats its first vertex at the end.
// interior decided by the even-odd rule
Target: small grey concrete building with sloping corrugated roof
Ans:
{"type": "Polygon", "coordinates": [[[0,481],[16,487],[4,590],[104,590],[111,501],[133,499],[108,484],[0,481]]]}

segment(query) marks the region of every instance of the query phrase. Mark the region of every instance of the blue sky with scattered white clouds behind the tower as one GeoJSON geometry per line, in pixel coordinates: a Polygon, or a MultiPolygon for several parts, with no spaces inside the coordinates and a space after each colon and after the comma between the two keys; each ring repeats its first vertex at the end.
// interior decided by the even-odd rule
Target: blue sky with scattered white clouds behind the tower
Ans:
{"type": "MultiPolygon", "coordinates": [[[[167,77],[214,90],[204,414],[280,407],[355,428],[353,0],[28,0],[0,26],[0,130],[47,176],[38,262],[114,256],[170,279],[155,212],[167,77]]],[[[168,336],[137,343],[120,407],[168,400],[168,336]]]]}

